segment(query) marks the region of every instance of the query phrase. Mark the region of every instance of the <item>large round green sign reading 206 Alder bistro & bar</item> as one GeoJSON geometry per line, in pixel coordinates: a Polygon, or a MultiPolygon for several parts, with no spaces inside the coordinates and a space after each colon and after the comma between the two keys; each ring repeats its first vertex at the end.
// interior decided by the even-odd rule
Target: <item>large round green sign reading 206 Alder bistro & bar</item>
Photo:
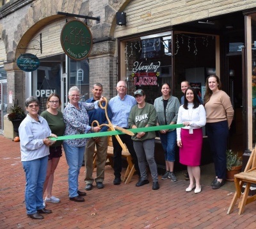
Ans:
{"type": "Polygon", "coordinates": [[[80,20],[70,20],[61,30],[61,46],[70,58],[81,60],[92,50],[92,33],[80,20]]]}

